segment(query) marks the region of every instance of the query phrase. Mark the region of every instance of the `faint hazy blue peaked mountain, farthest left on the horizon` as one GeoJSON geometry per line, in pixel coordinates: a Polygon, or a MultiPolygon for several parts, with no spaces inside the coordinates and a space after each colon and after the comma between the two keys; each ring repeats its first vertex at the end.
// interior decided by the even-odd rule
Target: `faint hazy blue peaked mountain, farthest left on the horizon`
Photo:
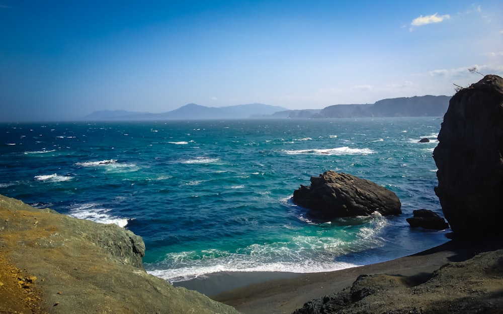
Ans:
{"type": "Polygon", "coordinates": [[[246,119],[270,117],[286,108],[263,103],[238,104],[227,107],[205,107],[189,103],[176,110],[161,113],[135,113],[127,111],[97,111],[82,120],[209,120],[209,119],[246,119]]]}

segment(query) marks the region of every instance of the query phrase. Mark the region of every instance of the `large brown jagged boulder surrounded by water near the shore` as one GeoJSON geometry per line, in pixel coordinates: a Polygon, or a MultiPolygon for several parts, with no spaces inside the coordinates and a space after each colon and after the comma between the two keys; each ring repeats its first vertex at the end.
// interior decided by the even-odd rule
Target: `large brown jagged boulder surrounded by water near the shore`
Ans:
{"type": "Polygon", "coordinates": [[[293,192],[293,202],[307,208],[311,219],[401,214],[400,200],[392,191],[347,173],[326,171],[311,177],[311,186],[293,192]]]}

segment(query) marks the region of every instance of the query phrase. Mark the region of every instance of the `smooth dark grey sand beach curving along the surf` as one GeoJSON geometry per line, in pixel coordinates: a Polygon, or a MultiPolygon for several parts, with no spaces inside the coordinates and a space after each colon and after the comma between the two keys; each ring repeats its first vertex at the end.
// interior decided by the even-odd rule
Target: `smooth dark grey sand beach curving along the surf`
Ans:
{"type": "Polygon", "coordinates": [[[291,313],[305,302],[350,286],[361,274],[417,276],[431,274],[449,262],[460,262],[500,245],[450,241],[433,249],[388,262],[323,273],[227,272],[178,283],[204,291],[244,314],[291,313]],[[267,280],[267,281],[266,281],[267,280]],[[231,288],[232,290],[227,290],[231,288]]]}

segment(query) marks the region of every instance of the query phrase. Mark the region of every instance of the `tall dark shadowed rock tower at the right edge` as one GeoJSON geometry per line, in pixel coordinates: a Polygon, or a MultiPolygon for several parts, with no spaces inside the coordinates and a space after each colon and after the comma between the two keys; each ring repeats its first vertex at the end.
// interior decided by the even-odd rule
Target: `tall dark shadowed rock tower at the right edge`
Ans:
{"type": "Polygon", "coordinates": [[[438,140],[435,192],[454,234],[502,233],[503,78],[486,75],[458,91],[438,140]]]}

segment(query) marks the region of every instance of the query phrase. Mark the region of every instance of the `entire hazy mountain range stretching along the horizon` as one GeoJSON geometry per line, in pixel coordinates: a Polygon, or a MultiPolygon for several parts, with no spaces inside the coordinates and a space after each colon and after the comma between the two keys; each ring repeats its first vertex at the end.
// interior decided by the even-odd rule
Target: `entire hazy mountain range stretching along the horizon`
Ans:
{"type": "Polygon", "coordinates": [[[176,110],[147,112],[95,111],[85,121],[211,120],[248,118],[359,118],[359,117],[441,117],[447,112],[450,96],[413,96],[378,100],[373,104],[334,104],[323,109],[288,110],[263,103],[227,107],[206,107],[189,103],[176,110]]]}

